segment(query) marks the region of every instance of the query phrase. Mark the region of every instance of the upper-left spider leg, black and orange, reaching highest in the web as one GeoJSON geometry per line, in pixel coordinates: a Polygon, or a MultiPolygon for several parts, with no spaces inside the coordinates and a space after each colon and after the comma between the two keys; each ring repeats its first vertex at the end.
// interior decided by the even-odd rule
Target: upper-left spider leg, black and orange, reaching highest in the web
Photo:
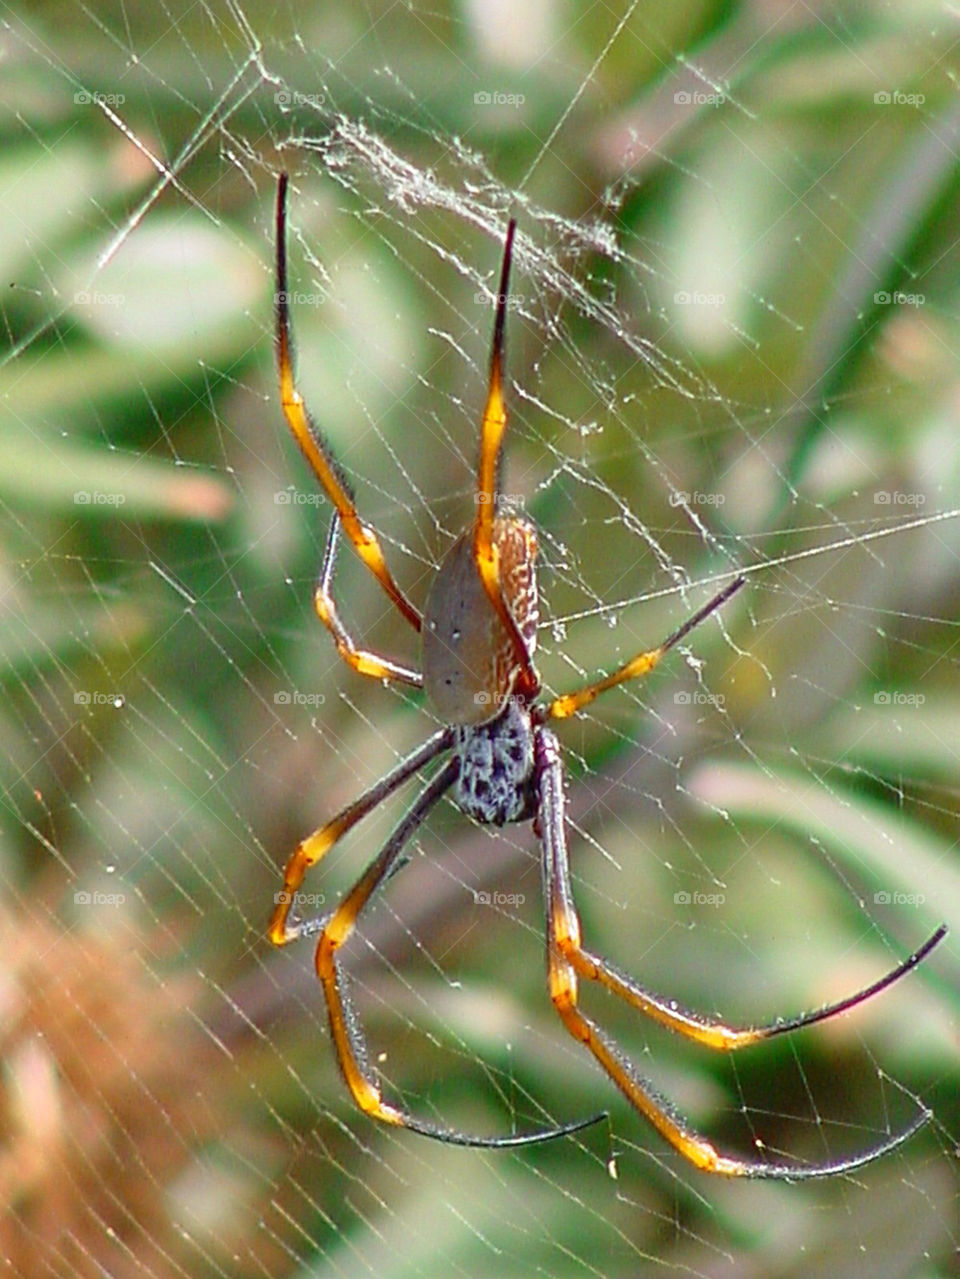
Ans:
{"type": "MultiPolygon", "coordinates": [[[[357,554],[380,582],[394,605],[414,631],[421,628],[421,615],[394,582],[386,567],[383,551],[373,530],[360,521],[350,486],[340,466],[326,445],[323,436],[309,416],[303,396],[297,390],[293,373],[293,338],[290,333],[290,302],[286,286],[286,187],[288,175],[280,174],[276,189],[276,362],[280,375],[280,402],[284,416],[303,455],[311,464],[327,496],[332,501],[344,532],[357,554]]],[[[321,615],[322,616],[322,615],[321,615]]]]}

